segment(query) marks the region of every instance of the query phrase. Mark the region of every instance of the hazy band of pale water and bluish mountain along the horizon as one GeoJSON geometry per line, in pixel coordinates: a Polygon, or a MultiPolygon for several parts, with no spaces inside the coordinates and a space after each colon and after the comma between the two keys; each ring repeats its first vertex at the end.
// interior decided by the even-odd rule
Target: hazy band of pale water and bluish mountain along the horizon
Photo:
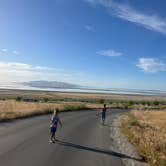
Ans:
{"type": "Polygon", "coordinates": [[[30,81],[22,83],[0,83],[1,89],[43,90],[59,92],[83,92],[83,93],[106,93],[106,94],[138,94],[166,96],[166,91],[123,89],[123,88],[97,88],[70,84],[59,81],[30,81]]]}

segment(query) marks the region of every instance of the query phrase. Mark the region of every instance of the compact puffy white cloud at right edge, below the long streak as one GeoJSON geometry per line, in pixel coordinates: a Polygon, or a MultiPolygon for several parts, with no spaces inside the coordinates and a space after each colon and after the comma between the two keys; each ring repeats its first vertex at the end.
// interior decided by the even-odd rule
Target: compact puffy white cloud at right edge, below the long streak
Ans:
{"type": "Polygon", "coordinates": [[[166,63],[154,58],[140,58],[137,67],[149,73],[166,71],[166,63]]]}

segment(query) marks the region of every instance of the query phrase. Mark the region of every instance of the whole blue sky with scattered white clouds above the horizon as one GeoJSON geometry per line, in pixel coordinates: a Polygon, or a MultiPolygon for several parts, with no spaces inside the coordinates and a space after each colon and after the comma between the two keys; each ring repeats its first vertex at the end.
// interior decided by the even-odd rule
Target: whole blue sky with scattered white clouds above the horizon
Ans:
{"type": "Polygon", "coordinates": [[[164,0],[0,0],[0,82],[166,90],[165,6],[164,0]]]}

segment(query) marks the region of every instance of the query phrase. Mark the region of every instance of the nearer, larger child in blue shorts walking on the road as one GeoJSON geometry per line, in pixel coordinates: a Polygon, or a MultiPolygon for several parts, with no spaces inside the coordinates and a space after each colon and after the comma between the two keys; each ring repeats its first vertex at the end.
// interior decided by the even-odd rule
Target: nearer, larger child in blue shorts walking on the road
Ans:
{"type": "Polygon", "coordinates": [[[56,109],[54,110],[54,113],[51,117],[51,122],[50,122],[50,142],[54,143],[55,142],[55,132],[57,130],[58,127],[58,123],[60,124],[60,126],[62,127],[62,122],[59,118],[59,110],[56,109]]]}

